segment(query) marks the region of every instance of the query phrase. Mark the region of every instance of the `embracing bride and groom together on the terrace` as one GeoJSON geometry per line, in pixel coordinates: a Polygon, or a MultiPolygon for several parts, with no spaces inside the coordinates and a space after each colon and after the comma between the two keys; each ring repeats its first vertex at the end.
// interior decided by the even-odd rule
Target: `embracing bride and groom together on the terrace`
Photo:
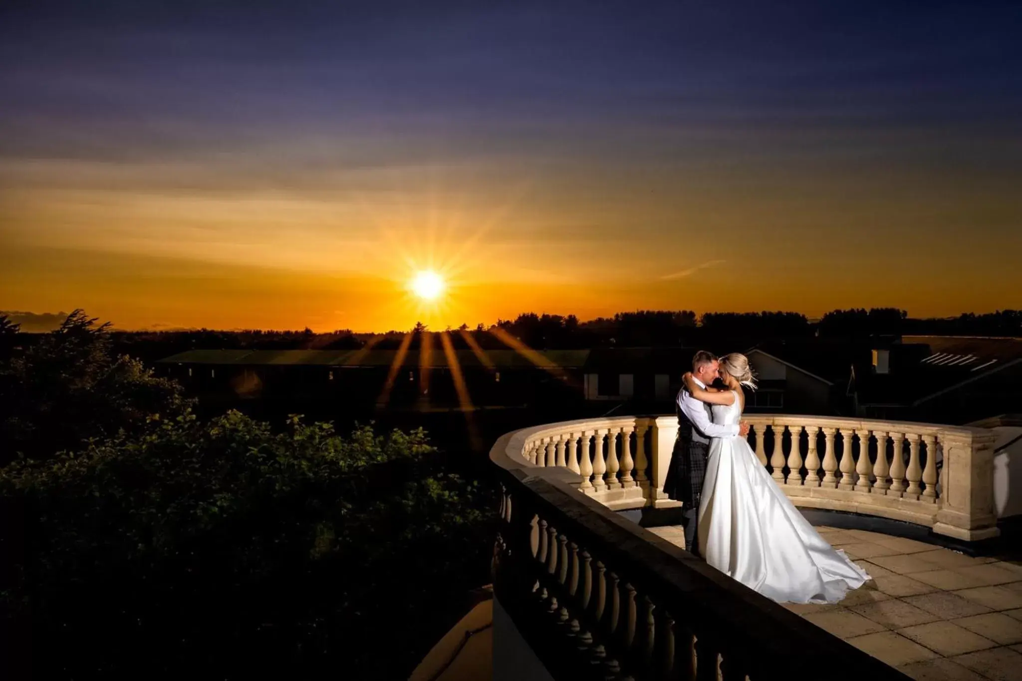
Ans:
{"type": "Polygon", "coordinates": [[[741,421],[748,358],[697,352],[678,393],[671,498],[690,552],[779,602],[834,603],[870,576],[835,550],[760,465],[741,421]],[[718,387],[713,387],[714,385],[718,387]]]}

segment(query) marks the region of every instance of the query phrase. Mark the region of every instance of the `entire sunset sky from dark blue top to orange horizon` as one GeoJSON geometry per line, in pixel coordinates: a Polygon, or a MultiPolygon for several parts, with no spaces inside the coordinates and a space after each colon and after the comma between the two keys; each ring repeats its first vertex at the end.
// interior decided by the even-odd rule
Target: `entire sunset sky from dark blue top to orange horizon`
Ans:
{"type": "Polygon", "coordinates": [[[22,4],[0,310],[1022,308],[1007,5],[22,4]],[[406,291],[427,267],[451,280],[431,307],[406,291]]]}

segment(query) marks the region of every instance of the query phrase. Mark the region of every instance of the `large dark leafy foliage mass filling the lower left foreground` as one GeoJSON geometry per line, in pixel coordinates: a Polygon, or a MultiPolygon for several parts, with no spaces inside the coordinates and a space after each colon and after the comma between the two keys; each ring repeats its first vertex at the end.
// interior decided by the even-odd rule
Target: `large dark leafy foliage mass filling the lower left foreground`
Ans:
{"type": "Polygon", "coordinates": [[[46,641],[40,678],[140,662],[161,678],[407,678],[452,591],[484,583],[491,545],[480,490],[435,455],[422,431],[340,437],[293,417],[274,433],[232,411],[15,461],[0,500],[20,523],[0,532],[32,540],[24,579],[0,586],[13,631],[46,641]],[[381,637],[401,645],[378,655],[381,637]]]}

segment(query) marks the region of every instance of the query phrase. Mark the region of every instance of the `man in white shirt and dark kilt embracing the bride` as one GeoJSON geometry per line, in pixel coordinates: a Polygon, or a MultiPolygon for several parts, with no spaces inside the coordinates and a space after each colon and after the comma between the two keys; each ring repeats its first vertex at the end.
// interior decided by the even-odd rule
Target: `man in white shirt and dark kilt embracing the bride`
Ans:
{"type": "MultiPolygon", "coordinates": [[[[716,355],[699,350],[692,357],[692,376],[702,387],[717,379],[719,362],[716,355]]],[[[670,475],[673,485],[664,485],[670,498],[682,502],[682,526],[685,528],[685,545],[690,553],[699,555],[698,525],[699,501],[702,496],[703,477],[706,475],[706,457],[709,441],[714,437],[749,434],[749,425],[721,426],[713,423],[709,404],[700,402],[682,386],[678,393],[678,439],[670,457],[670,475]]]]}

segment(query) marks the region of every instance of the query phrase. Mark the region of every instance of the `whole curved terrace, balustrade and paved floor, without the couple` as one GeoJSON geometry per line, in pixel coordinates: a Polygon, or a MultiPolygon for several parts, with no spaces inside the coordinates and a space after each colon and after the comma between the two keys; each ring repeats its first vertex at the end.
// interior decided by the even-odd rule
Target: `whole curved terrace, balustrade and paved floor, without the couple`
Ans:
{"type": "Polygon", "coordinates": [[[782,605],[685,551],[663,493],[673,417],[524,429],[491,451],[495,679],[1022,678],[1022,564],[968,554],[997,543],[994,431],[747,420],[789,498],[874,580],[782,605]]]}

